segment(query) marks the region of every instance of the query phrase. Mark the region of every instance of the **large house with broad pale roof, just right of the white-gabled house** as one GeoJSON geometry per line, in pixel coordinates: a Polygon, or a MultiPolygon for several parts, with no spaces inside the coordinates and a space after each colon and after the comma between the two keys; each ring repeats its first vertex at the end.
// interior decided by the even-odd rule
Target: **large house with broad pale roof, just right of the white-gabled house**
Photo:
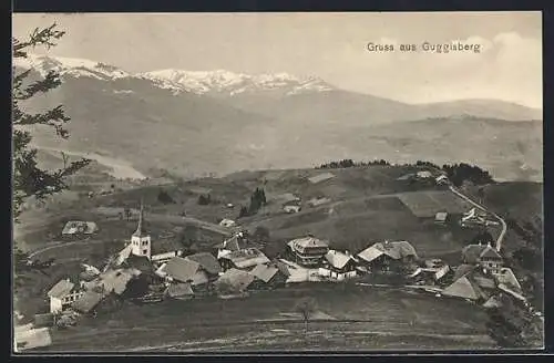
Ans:
{"type": "Polygon", "coordinates": [[[418,253],[408,241],[373,243],[358,253],[359,259],[372,271],[400,271],[418,259],[418,253]]]}

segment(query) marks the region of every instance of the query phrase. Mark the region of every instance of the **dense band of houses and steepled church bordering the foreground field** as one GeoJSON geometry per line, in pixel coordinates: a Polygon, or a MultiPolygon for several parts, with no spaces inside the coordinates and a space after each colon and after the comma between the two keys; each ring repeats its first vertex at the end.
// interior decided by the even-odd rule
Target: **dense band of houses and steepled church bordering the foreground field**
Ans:
{"type": "MultiPolygon", "coordinates": [[[[473,210],[464,217],[469,220],[475,216],[473,210]]],[[[144,229],[141,206],[137,228],[129,243],[102,270],[86,267],[79,278],[63,279],[52,287],[48,292],[50,311],[94,312],[104,299],[122,295],[130,281],[140,277],[158,287],[145,294],[153,297],[152,301],[214,293],[237,297],[288,282],[345,281],[369,273],[400,274],[411,284],[433,287],[432,291],[441,291],[442,295],[489,304],[499,291],[524,301],[517,279],[503,267],[502,257],[490,245],[466,246],[462,250],[463,263],[455,269],[442,260],[422,261],[408,241],[379,241],[350,253],[330,249],[328,241],[309,235],[286,247],[285,258],[271,260],[238,231],[212,252],[184,256],[183,246],[176,241],[152,242],[144,229]]]]}

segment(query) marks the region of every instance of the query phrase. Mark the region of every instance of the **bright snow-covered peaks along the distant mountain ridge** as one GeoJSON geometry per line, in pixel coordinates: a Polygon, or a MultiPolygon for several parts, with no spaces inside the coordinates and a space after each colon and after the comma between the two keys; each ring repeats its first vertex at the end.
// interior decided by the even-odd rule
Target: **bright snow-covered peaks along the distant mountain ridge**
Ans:
{"type": "Polygon", "coordinates": [[[132,74],[120,68],[86,59],[38,54],[28,54],[25,59],[14,59],[13,65],[25,70],[33,69],[43,76],[49,71],[55,71],[62,77],[66,75],[73,77],[84,76],[103,81],[125,77],[143,79],[151,81],[157,87],[171,90],[174,93],[217,93],[233,96],[248,92],[281,91],[285,95],[294,95],[304,92],[326,92],[334,90],[332,86],[318,77],[299,77],[288,73],[253,75],[225,70],[184,71],[167,69],[132,74]]]}

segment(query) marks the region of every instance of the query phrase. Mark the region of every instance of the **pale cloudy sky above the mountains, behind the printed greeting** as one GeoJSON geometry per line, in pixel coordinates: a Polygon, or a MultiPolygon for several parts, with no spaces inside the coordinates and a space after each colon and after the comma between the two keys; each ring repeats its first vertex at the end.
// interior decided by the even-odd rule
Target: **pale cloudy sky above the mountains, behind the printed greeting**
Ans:
{"type": "Polygon", "coordinates": [[[408,103],[543,103],[541,12],[20,13],[13,35],[54,21],[68,33],[48,54],[127,72],[287,72],[408,103]],[[425,52],[424,42],[480,44],[481,52],[425,52]],[[368,43],[394,51],[370,52],[368,43]]]}

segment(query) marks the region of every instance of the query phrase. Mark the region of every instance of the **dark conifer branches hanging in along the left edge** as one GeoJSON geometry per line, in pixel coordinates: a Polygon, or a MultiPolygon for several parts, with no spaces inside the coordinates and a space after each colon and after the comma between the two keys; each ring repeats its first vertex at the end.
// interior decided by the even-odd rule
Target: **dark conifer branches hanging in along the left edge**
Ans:
{"type": "MultiPolygon", "coordinates": [[[[29,39],[19,40],[12,38],[13,59],[27,58],[27,52],[37,46],[45,46],[47,49],[54,46],[55,41],[64,34],[65,32],[58,30],[54,23],[45,29],[34,29],[29,39]]],[[[38,200],[42,200],[49,195],[66,189],[65,178],[86,166],[90,160],[83,158],[64,165],[63,168],[54,172],[43,170],[38,167],[37,149],[30,147],[32,136],[27,131],[21,129],[20,126],[37,124],[51,126],[58,136],[65,139],[69,137],[69,133],[64,128],[64,124],[70,121],[70,117],[64,114],[62,105],[43,113],[29,114],[21,106],[21,102],[58,87],[61,80],[59,74],[51,71],[42,80],[25,82],[31,73],[30,70],[17,72],[16,66],[13,66],[12,71],[12,209],[14,221],[18,222],[23,204],[29,197],[34,196],[38,200]]],[[[20,251],[16,251],[16,257],[21,257],[20,251]]]]}

